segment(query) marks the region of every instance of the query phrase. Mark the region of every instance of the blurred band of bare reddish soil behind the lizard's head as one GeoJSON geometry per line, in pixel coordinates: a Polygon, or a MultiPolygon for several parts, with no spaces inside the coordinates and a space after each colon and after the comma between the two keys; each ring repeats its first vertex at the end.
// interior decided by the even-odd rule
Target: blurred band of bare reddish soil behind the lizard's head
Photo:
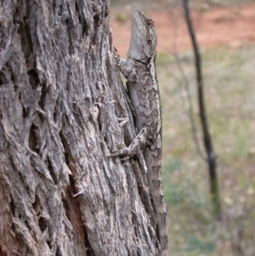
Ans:
{"type": "MultiPolygon", "coordinates": [[[[113,42],[122,57],[126,56],[129,45],[130,9],[111,10],[113,42]],[[125,22],[117,21],[117,13],[127,17],[125,22]]],[[[190,48],[190,37],[182,10],[156,10],[147,14],[155,21],[158,35],[157,52],[171,53],[190,48]]],[[[255,43],[255,3],[238,8],[207,6],[203,11],[192,10],[192,18],[201,48],[222,44],[239,47],[245,43],[255,43]]]]}

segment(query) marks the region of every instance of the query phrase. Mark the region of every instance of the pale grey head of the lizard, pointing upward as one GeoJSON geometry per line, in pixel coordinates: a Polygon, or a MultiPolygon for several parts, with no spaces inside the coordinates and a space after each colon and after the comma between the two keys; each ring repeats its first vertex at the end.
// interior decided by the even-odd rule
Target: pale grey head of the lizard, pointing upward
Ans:
{"type": "Polygon", "coordinates": [[[131,40],[127,57],[146,62],[156,54],[154,22],[137,9],[133,9],[131,40]]]}

